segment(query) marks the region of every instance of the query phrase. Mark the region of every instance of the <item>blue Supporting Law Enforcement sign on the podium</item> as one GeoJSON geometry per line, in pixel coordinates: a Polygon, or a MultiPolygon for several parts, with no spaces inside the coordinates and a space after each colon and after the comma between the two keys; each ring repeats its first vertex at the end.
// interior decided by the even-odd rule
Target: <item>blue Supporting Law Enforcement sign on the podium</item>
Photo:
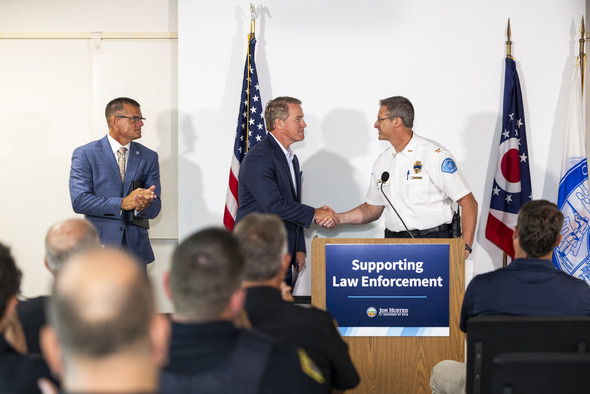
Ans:
{"type": "Polygon", "coordinates": [[[448,244],[326,245],[326,309],[342,336],[449,336],[448,244]]]}

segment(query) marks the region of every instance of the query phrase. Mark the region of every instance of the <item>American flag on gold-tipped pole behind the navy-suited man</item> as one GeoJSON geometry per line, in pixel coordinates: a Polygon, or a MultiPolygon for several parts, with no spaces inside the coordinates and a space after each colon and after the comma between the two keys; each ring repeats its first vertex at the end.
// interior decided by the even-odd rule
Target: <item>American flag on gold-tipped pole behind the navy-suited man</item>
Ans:
{"type": "Polygon", "coordinates": [[[229,184],[225,198],[225,213],[223,215],[223,224],[230,232],[234,229],[236,212],[238,210],[238,173],[240,172],[240,163],[248,151],[266,135],[262,99],[260,98],[260,88],[258,86],[258,74],[256,72],[256,64],[254,63],[256,38],[254,38],[253,34],[248,35],[248,42],[236,140],[234,142],[234,153],[232,155],[229,184]]]}

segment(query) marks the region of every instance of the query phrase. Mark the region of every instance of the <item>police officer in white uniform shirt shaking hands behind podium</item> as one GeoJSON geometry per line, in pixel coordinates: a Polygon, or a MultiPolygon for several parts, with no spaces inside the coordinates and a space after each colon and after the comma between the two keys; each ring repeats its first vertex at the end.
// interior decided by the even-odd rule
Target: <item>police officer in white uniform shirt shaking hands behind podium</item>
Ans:
{"type": "Polygon", "coordinates": [[[409,238],[410,233],[414,238],[450,238],[456,202],[462,212],[467,258],[475,235],[477,201],[453,155],[412,130],[414,107],[408,99],[389,97],[380,105],[375,128],[379,139],[389,141],[391,147],[373,165],[365,202],[338,214],[339,224],[369,223],[385,209],[386,238],[409,238]]]}

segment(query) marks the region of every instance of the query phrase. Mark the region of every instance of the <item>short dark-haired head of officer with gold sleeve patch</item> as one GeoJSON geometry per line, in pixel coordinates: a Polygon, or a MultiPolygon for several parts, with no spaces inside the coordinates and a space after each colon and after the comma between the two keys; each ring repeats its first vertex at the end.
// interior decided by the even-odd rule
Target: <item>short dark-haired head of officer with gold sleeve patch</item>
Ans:
{"type": "Polygon", "coordinates": [[[175,312],[186,319],[219,318],[240,288],[244,259],[238,241],[225,229],[199,231],[172,256],[170,290],[175,312]]]}

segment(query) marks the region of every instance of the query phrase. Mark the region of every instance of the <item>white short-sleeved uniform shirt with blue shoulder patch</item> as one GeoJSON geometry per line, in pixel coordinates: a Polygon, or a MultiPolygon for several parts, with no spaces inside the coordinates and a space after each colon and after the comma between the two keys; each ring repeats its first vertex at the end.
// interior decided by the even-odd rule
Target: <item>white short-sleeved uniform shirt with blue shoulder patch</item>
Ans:
{"type": "Polygon", "coordinates": [[[451,223],[451,204],[471,193],[455,158],[444,147],[413,133],[403,151],[391,146],[381,153],[371,174],[365,202],[385,206],[385,227],[404,231],[404,226],[381,193],[381,174],[389,172],[383,191],[408,229],[426,230],[451,223]]]}

